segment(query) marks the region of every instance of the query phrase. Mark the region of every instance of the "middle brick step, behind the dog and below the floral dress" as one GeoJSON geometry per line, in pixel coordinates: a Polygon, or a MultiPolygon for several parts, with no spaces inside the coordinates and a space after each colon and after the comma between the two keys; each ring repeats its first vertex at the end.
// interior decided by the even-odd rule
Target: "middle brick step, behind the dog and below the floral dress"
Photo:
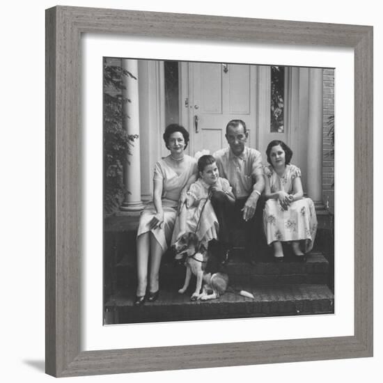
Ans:
{"type": "MultiPolygon", "coordinates": [[[[244,260],[240,252],[235,253],[226,265],[230,283],[245,283],[251,286],[329,283],[329,263],[322,253],[308,254],[306,263],[299,263],[288,257],[283,263],[267,262],[267,259],[270,257],[251,265],[244,260]]],[[[162,263],[159,272],[161,286],[181,287],[184,278],[185,266],[162,263]]],[[[118,265],[116,281],[118,287],[136,286],[135,263],[118,265]]]]}

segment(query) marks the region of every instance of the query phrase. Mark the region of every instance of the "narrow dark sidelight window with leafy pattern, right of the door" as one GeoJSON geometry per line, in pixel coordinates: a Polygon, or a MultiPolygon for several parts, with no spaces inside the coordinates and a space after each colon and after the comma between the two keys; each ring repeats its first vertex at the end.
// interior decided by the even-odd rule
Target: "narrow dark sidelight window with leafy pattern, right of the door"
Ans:
{"type": "Polygon", "coordinates": [[[285,68],[272,66],[271,132],[283,132],[285,68]]]}

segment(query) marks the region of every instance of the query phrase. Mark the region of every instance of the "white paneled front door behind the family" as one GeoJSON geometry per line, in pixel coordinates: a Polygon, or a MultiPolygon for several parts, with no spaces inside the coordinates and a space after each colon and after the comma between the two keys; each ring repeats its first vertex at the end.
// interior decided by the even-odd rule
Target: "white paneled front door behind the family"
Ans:
{"type": "Polygon", "coordinates": [[[189,63],[190,153],[227,146],[229,120],[241,119],[249,129],[249,145],[256,139],[256,67],[226,63],[189,63]]]}

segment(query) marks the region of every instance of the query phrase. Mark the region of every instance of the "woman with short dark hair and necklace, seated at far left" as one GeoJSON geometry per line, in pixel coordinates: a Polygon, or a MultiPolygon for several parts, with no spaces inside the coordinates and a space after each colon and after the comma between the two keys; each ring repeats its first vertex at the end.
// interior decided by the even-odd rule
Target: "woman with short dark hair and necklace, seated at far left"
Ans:
{"type": "Polygon", "coordinates": [[[141,306],[146,300],[154,302],[159,295],[159,265],[171,240],[178,201],[185,201],[186,190],[196,180],[196,160],[184,153],[189,142],[185,127],[171,124],[166,127],[163,138],[170,155],[155,164],[153,201],[141,213],[137,232],[138,286],[135,306],[141,306]]]}

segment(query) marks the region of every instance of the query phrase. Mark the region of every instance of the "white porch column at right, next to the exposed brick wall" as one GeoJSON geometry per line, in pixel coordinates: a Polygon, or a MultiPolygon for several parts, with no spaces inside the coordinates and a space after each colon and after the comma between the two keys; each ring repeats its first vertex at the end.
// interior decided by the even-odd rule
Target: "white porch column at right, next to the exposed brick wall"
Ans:
{"type": "Polygon", "coordinates": [[[323,70],[308,70],[308,145],[307,194],[315,209],[325,208],[322,202],[322,141],[323,141],[323,70]]]}

